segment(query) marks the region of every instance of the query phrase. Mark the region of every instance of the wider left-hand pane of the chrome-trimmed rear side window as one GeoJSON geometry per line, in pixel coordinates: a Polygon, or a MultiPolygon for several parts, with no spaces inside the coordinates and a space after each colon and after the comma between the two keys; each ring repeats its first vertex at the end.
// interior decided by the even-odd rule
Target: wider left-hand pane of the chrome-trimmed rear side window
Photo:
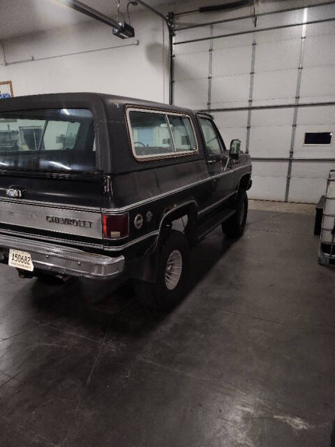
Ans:
{"type": "Polygon", "coordinates": [[[173,146],[163,113],[129,112],[135,154],[139,157],[150,157],[170,154],[173,146]]]}

